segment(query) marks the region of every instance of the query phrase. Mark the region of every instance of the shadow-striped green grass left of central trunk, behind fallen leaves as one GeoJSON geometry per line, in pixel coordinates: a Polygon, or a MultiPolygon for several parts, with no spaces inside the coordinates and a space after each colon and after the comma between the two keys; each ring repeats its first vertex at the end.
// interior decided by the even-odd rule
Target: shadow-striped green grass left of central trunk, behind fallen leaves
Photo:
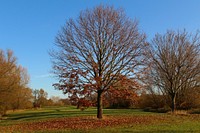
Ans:
{"type": "Polygon", "coordinates": [[[24,111],[10,111],[6,115],[6,119],[0,122],[1,125],[11,125],[19,122],[29,122],[38,120],[47,120],[62,117],[76,117],[83,115],[95,115],[95,109],[90,108],[85,111],[80,111],[74,106],[69,107],[45,107],[40,109],[30,109],[24,111]]]}

